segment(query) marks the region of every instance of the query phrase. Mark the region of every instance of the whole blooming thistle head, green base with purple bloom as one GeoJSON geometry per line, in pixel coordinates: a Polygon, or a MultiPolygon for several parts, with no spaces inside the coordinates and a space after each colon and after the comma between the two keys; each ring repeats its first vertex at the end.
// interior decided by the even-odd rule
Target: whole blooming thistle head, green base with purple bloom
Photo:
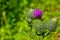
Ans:
{"type": "Polygon", "coordinates": [[[30,9],[30,10],[28,10],[28,12],[26,14],[26,19],[27,19],[27,21],[29,21],[29,23],[34,18],[39,19],[41,17],[42,17],[42,11],[40,9],[30,9]]]}

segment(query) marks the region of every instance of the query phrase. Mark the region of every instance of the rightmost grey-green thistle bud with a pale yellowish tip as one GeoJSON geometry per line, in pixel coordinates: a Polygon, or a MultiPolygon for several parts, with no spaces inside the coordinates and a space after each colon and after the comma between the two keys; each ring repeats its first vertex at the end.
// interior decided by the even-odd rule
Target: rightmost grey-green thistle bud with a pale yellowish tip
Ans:
{"type": "Polygon", "coordinates": [[[55,31],[56,27],[57,27],[57,18],[56,17],[50,19],[47,22],[47,28],[48,28],[48,30],[55,31]]]}

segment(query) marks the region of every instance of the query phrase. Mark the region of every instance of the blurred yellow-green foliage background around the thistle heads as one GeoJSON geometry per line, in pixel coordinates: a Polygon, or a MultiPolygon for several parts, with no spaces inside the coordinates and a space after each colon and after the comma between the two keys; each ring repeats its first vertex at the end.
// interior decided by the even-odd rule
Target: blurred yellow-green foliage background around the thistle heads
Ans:
{"type": "MultiPolygon", "coordinates": [[[[44,21],[60,18],[60,0],[0,0],[0,40],[42,40],[34,28],[30,31],[26,21],[25,15],[31,8],[41,9],[44,21]]],[[[60,19],[56,31],[60,35],[60,19]]],[[[43,40],[56,39],[51,34],[43,40]]]]}

